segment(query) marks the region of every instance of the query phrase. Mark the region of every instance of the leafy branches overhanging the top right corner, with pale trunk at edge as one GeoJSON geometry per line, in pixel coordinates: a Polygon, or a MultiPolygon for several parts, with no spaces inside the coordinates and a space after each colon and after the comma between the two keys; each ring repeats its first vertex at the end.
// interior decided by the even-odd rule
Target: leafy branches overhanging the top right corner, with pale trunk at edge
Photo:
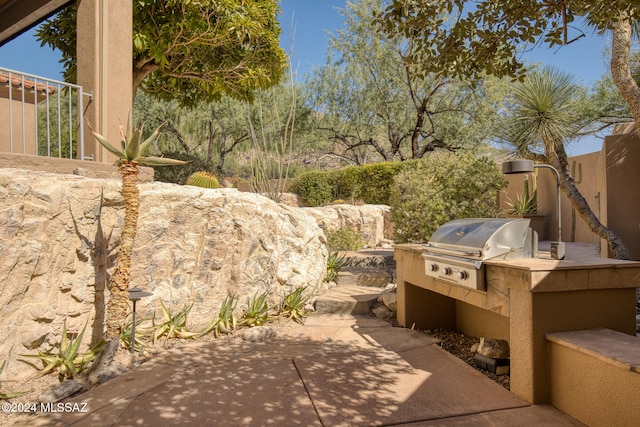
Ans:
{"type": "Polygon", "coordinates": [[[630,66],[632,24],[640,18],[637,0],[394,0],[377,22],[387,34],[403,34],[416,43],[413,62],[425,73],[521,80],[526,73],[521,50],[536,43],[576,42],[584,35],[572,33],[579,17],[599,33],[611,30],[611,75],[640,123],[640,88],[630,66]]]}

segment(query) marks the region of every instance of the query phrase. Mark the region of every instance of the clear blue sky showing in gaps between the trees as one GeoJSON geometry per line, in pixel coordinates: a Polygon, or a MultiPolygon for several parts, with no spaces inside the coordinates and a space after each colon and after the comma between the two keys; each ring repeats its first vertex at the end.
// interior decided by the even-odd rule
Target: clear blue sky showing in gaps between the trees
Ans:
{"type": "MultiPolygon", "coordinates": [[[[293,33],[293,68],[304,75],[314,66],[324,64],[328,45],[327,32],[342,25],[338,8],[346,0],[282,0],[281,26],[283,48],[290,52],[293,33]]],[[[559,49],[539,47],[526,54],[531,62],[554,65],[571,73],[576,81],[590,84],[607,71],[603,51],[609,44],[607,35],[587,35],[559,49]]],[[[40,47],[32,32],[28,32],[0,47],[0,66],[43,77],[62,79],[60,56],[48,47],[40,47]]],[[[601,141],[591,139],[569,147],[572,155],[600,150],[601,141]]]]}

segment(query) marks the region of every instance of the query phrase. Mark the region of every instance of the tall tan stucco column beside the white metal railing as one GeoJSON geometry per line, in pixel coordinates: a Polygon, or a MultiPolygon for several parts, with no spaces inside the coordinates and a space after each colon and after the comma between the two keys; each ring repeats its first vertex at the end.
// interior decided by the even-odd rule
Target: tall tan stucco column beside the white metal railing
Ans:
{"type": "Polygon", "coordinates": [[[132,0],[78,1],[78,84],[93,94],[85,115],[85,156],[111,163],[115,157],[100,146],[91,126],[119,146],[119,126],[133,107],[132,0]]]}

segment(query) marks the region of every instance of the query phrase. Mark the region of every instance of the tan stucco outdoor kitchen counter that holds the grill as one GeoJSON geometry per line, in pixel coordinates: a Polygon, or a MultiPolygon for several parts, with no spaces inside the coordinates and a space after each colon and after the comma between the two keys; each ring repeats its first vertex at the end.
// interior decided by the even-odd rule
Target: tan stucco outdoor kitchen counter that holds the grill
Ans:
{"type": "Polygon", "coordinates": [[[395,246],[398,322],[509,341],[511,391],[528,402],[549,401],[545,334],[608,328],[636,335],[640,262],[567,244],[564,260],[541,250],[536,258],[484,261],[486,290],[476,290],[426,275],[424,251],[395,246]]]}

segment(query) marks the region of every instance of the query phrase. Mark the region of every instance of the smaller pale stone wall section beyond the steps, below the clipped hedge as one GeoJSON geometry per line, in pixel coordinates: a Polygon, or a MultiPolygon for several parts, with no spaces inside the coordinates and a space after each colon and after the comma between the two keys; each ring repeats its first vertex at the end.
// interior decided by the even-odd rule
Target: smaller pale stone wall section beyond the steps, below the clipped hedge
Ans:
{"type": "Polygon", "coordinates": [[[393,240],[391,208],[387,205],[338,204],[301,208],[325,230],[350,229],[360,233],[367,247],[375,248],[393,240]]]}

